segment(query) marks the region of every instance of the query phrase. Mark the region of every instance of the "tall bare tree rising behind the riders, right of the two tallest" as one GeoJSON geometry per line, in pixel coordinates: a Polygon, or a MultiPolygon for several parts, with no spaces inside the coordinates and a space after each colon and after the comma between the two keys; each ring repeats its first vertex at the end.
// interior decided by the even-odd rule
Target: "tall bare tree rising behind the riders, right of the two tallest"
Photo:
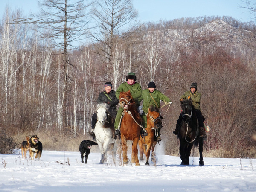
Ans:
{"type": "Polygon", "coordinates": [[[115,87],[117,81],[120,80],[116,74],[119,74],[121,69],[117,67],[121,61],[121,58],[117,59],[117,56],[123,52],[121,50],[124,49],[123,42],[139,29],[135,20],[137,11],[131,0],[96,0],[92,14],[96,26],[90,35],[94,41],[98,42],[95,44],[96,53],[100,55],[102,63],[105,64],[107,74],[113,78],[111,80],[115,87]]]}

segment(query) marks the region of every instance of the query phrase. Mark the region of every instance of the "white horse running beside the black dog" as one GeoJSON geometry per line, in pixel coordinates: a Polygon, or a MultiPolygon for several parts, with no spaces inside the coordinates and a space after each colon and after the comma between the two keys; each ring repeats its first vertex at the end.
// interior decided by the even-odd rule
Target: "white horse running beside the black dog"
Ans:
{"type": "MultiPolygon", "coordinates": [[[[107,152],[113,151],[113,157],[116,157],[116,146],[114,139],[114,123],[116,118],[115,111],[108,111],[109,105],[102,103],[97,105],[97,123],[94,134],[101,151],[101,160],[103,164],[107,160],[107,152]]],[[[115,159],[114,159],[115,160],[115,159]]]]}

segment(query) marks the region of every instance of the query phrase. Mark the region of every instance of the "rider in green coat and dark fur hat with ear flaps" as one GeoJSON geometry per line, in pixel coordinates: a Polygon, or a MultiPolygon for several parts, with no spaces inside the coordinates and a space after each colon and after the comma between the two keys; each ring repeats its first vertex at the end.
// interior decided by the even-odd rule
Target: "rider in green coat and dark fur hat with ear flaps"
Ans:
{"type": "MultiPolygon", "coordinates": [[[[125,80],[126,82],[120,84],[120,86],[117,88],[116,97],[119,99],[121,92],[127,92],[128,90],[130,90],[131,96],[134,99],[136,106],[139,107],[140,106],[139,98],[141,97],[142,88],[139,83],[135,82],[137,80],[135,73],[132,73],[132,72],[128,73],[125,80]]],[[[124,109],[119,107],[117,111],[116,119],[115,119],[115,129],[116,129],[115,135],[118,135],[118,136],[120,135],[120,130],[118,128],[118,125],[120,123],[120,119],[123,111],[124,109]]],[[[146,118],[142,117],[142,124],[144,128],[147,127],[147,117],[146,118]]],[[[145,132],[144,132],[144,136],[146,136],[145,132]]]]}

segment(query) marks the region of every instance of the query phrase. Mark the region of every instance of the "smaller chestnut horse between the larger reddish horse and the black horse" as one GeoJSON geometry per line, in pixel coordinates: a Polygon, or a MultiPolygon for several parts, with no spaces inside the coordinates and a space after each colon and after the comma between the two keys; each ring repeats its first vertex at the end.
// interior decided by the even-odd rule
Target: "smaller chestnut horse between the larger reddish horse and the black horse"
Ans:
{"type": "MultiPolygon", "coordinates": [[[[146,155],[146,165],[149,165],[148,159],[150,156],[150,150],[154,150],[154,146],[156,145],[156,141],[154,140],[154,134],[158,128],[162,127],[162,120],[159,114],[159,108],[153,108],[150,106],[147,113],[147,128],[148,135],[145,136],[144,140],[139,141],[140,146],[140,160],[143,160],[143,152],[146,155]]],[[[152,153],[153,155],[153,153],[152,153]]]]}

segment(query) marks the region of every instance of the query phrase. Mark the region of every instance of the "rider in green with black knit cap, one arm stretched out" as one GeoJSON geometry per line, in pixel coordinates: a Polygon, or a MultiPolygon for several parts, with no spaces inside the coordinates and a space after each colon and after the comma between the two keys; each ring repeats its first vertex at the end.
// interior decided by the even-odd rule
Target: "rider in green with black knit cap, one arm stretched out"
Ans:
{"type": "MultiPolygon", "coordinates": [[[[160,101],[165,101],[169,105],[172,104],[171,100],[166,95],[161,93],[159,90],[156,90],[156,84],[154,82],[149,82],[148,89],[144,89],[142,91],[142,96],[140,97],[139,101],[142,101],[142,100],[143,100],[142,116],[145,116],[145,118],[146,118],[145,113],[148,113],[148,108],[150,107],[150,105],[152,105],[153,107],[160,108],[160,101]]],[[[162,119],[162,116],[160,117],[162,119]]],[[[158,137],[156,138],[156,140],[161,141],[160,130],[158,132],[158,137]]]]}

